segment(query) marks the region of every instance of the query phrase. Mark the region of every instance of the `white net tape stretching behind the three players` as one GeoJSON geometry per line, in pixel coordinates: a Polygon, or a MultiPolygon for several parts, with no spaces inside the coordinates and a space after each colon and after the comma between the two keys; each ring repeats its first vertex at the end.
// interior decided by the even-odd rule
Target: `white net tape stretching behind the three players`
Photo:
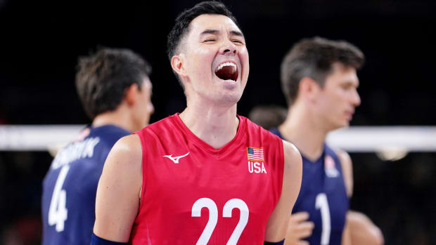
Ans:
{"type": "MultiPolygon", "coordinates": [[[[0,126],[0,150],[46,151],[74,139],[84,125],[0,126]]],[[[347,152],[436,152],[436,126],[352,126],[327,142],[347,152]]]]}

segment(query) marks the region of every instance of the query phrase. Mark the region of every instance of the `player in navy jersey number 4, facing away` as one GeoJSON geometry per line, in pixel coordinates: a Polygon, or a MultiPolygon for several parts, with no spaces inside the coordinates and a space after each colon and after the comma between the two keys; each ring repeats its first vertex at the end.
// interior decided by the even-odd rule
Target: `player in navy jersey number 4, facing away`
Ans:
{"type": "Polygon", "coordinates": [[[43,182],[42,244],[91,244],[98,180],[115,142],[148,124],[150,66],[127,49],[79,58],[76,87],[92,124],[61,149],[43,182]]]}

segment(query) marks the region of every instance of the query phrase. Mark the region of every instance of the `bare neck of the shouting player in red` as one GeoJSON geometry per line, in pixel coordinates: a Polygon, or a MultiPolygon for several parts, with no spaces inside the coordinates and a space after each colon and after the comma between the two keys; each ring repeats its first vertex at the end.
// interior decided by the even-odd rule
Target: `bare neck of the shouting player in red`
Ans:
{"type": "Polygon", "coordinates": [[[188,101],[180,119],[198,138],[219,149],[229,143],[238,131],[236,104],[231,107],[217,107],[188,101]]]}

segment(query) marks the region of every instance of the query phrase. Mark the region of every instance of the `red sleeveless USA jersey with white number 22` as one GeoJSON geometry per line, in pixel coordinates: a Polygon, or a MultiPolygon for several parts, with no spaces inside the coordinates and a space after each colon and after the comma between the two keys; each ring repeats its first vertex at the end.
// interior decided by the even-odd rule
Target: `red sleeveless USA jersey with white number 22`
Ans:
{"type": "Polygon", "coordinates": [[[263,244],[283,183],[283,143],[238,116],[235,138],[214,149],[178,114],[136,132],[143,185],[132,244],[263,244]]]}

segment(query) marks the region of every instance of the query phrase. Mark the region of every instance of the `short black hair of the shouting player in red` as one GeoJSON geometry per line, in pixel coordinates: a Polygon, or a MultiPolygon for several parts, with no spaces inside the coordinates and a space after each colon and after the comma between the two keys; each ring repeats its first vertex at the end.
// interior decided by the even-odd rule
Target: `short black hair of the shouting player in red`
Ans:
{"type": "MultiPolygon", "coordinates": [[[[177,16],[174,27],[172,27],[171,32],[169,32],[168,34],[167,55],[169,61],[171,61],[172,57],[176,55],[177,49],[180,46],[181,39],[183,39],[185,35],[189,32],[189,24],[191,23],[191,21],[198,16],[205,14],[227,16],[231,20],[233,20],[236,26],[238,26],[238,22],[236,21],[236,18],[233,16],[233,14],[229,11],[229,9],[226,8],[224,4],[219,1],[203,1],[199,4],[196,4],[192,8],[185,9],[177,16]]],[[[179,79],[179,76],[177,76],[177,74],[176,77],[177,79],[179,79]]],[[[181,84],[180,79],[179,82],[181,84]]],[[[183,86],[183,84],[181,84],[181,86],[183,86]]]]}

